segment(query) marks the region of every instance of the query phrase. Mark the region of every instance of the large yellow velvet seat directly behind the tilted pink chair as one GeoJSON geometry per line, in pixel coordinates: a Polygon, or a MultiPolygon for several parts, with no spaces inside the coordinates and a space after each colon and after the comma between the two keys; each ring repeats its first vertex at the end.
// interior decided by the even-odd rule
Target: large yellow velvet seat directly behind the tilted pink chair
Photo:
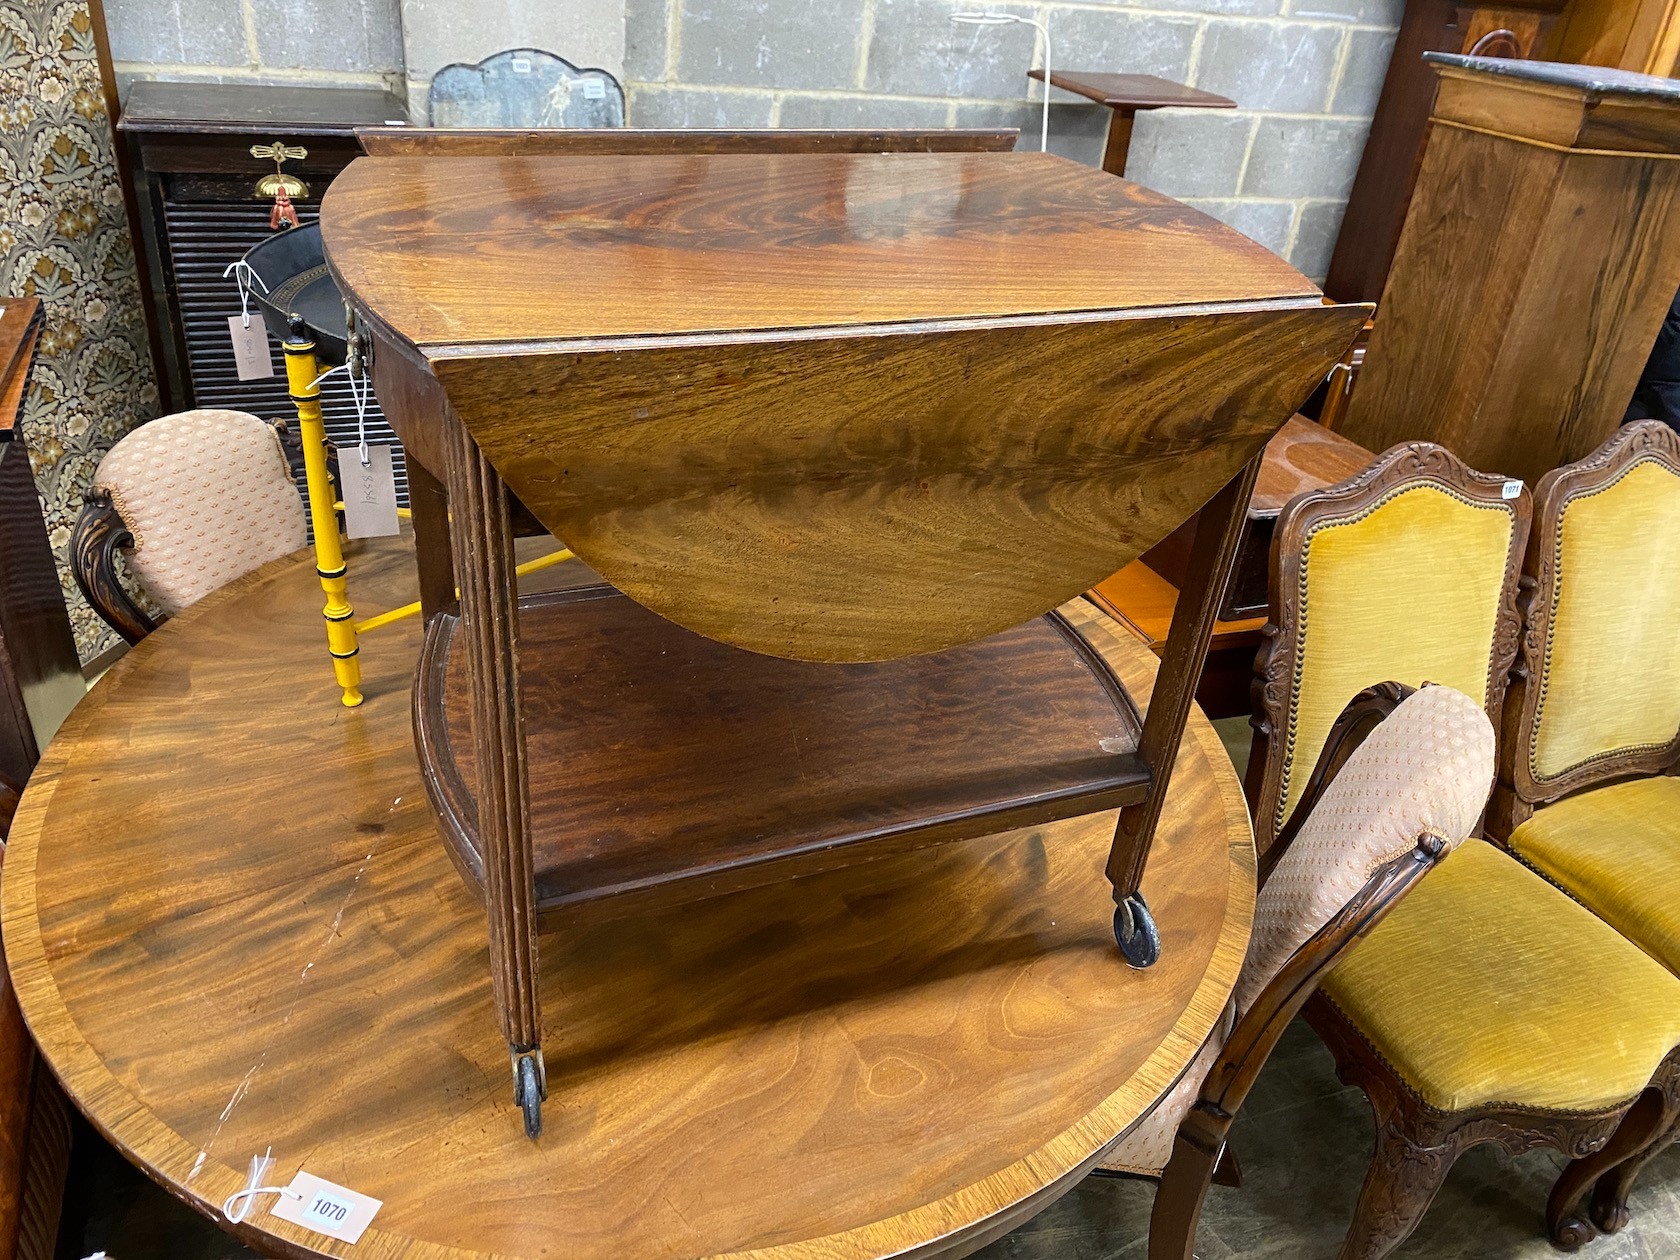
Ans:
{"type": "Polygon", "coordinates": [[[1680,979],[1482,840],[1421,880],[1322,991],[1438,1110],[1603,1110],[1680,1045],[1680,979]]]}

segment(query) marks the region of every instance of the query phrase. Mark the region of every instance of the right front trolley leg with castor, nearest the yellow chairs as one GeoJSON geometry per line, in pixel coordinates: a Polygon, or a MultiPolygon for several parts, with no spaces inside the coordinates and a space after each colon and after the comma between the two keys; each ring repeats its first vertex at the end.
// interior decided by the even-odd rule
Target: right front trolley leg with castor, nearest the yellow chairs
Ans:
{"type": "Polygon", "coordinates": [[[1149,768],[1149,793],[1137,805],[1121,810],[1114,828],[1107,870],[1114,885],[1114,939],[1134,968],[1154,966],[1161,956],[1154,916],[1149,914],[1139,885],[1173,780],[1184,722],[1189,721],[1189,706],[1196,699],[1196,684],[1208,659],[1208,643],[1213,642],[1213,622],[1231,580],[1231,563],[1242,543],[1248,499],[1253,497],[1255,479],[1260,475],[1260,459],[1262,455],[1255,455],[1201,509],[1184,588],[1173,610],[1173,628],[1166,637],[1161,670],[1156,674],[1142,738],[1137,741],[1137,756],[1149,768]]]}

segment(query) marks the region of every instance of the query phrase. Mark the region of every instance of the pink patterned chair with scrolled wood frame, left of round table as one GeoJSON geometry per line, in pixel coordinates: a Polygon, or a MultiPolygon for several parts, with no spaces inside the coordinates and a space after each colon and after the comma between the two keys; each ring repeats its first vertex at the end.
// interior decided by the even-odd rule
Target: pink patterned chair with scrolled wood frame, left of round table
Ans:
{"type": "Polygon", "coordinates": [[[156,622],[123,588],[116,553],[165,615],[307,541],[276,427],[245,412],[166,415],[124,437],[94,472],[71,541],[87,603],[129,643],[156,622]]]}

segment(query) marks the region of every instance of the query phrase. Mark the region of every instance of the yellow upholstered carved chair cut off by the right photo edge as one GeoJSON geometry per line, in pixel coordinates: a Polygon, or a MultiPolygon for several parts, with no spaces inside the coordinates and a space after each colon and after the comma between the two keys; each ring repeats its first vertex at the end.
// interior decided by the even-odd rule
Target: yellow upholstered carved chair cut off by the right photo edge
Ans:
{"type": "Polygon", "coordinates": [[[1680,974],[1680,435],[1542,477],[1524,578],[1490,833],[1680,974]]]}

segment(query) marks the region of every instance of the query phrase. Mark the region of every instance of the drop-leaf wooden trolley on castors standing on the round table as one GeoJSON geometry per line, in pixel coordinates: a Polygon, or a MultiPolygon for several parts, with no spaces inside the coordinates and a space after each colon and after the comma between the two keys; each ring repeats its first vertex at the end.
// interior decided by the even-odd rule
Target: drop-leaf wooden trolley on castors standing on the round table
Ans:
{"type": "Polygon", "coordinates": [[[321,232],[420,467],[415,741],[531,1136],[538,921],[580,902],[1119,808],[1116,937],[1154,961],[1258,455],[1364,307],[1040,155],[366,158],[321,232]],[[1048,613],[1198,507],[1139,717],[1048,613]],[[521,526],[612,585],[521,600],[521,526]]]}

